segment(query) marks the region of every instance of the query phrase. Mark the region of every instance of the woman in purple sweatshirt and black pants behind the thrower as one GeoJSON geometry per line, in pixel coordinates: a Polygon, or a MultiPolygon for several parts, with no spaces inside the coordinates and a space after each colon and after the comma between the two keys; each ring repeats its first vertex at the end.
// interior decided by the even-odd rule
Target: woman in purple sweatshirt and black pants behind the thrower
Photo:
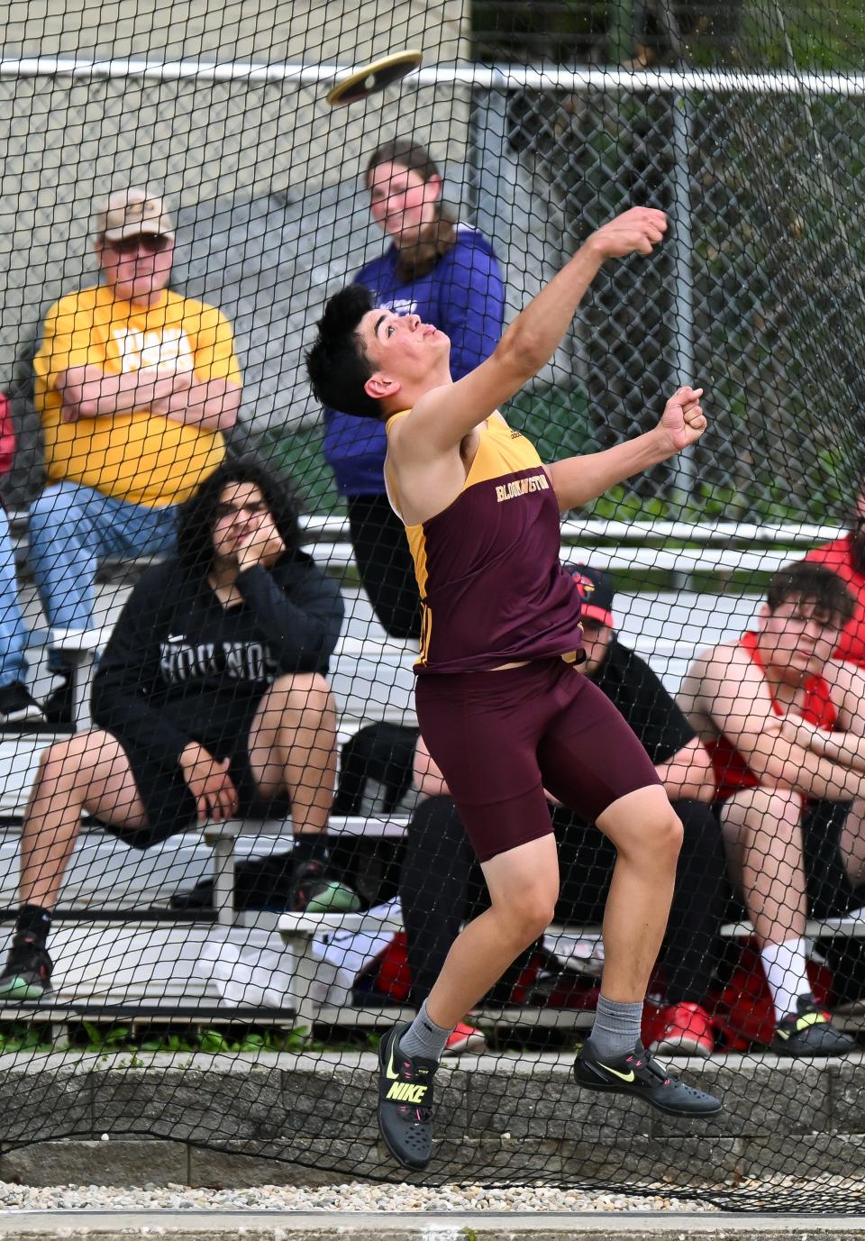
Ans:
{"type": "MultiPolygon", "coordinates": [[[[442,202],[429,151],[406,138],[379,146],[366,165],[372,216],[391,238],[357,272],[376,305],[418,314],[449,336],[454,380],[474,370],[501,336],[505,290],[489,241],[442,202]]],[[[324,454],[349,510],[351,545],[379,620],[392,638],[419,638],[415,570],[401,522],[385,494],[385,428],[324,411],[324,454]]]]}

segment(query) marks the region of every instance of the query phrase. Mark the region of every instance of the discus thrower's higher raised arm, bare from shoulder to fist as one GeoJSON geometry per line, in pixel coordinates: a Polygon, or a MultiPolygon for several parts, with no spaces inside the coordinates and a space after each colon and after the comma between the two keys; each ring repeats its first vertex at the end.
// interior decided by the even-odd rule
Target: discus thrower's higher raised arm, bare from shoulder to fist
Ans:
{"type": "Polygon", "coordinates": [[[434,457],[459,444],[546,366],[602,264],[650,254],[665,231],[664,212],[650,207],[632,207],[596,230],[514,319],[490,357],[455,383],[406,402],[411,413],[400,427],[401,453],[434,457]]]}

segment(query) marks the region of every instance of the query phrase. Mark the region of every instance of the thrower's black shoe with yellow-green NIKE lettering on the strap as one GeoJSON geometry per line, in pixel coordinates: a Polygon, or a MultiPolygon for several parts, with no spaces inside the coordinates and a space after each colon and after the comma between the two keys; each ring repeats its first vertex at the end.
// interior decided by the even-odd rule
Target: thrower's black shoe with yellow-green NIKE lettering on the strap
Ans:
{"type": "Polygon", "coordinates": [[[432,1157],[434,1060],[403,1056],[402,1021],[379,1044],[379,1128],[385,1145],[403,1168],[419,1170],[432,1157]]]}

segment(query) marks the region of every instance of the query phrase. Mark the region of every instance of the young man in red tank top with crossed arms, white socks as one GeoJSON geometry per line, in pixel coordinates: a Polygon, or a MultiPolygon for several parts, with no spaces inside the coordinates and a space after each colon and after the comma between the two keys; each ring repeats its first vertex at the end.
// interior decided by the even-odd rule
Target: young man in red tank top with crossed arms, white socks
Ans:
{"type": "Polygon", "coordinates": [[[712,757],[727,869],[774,1003],[772,1047],[791,1056],[855,1047],[810,994],[804,859],[814,815],[840,818],[823,860],[851,908],[865,880],[865,674],[831,655],[853,611],[823,565],[787,565],[755,630],[701,652],[678,700],[712,757]]]}

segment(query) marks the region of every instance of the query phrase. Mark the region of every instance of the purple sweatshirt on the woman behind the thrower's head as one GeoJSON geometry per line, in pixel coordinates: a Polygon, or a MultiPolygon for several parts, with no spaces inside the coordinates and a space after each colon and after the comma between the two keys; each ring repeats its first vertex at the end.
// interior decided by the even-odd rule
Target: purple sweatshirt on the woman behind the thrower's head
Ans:
{"type": "MultiPolygon", "coordinates": [[[[365,284],[376,305],[396,314],[417,314],[450,338],[450,374],[468,375],[493,352],[501,336],[505,289],[493,247],[469,225],[457,226],[457,243],[436,267],[416,280],[396,274],[398,252],[391,246],[362,267],[355,284],[365,284]]],[[[372,418],[324,411],[324,455],[343,495],[383,495],[387,450],[385,427],[372,418]]]]}

